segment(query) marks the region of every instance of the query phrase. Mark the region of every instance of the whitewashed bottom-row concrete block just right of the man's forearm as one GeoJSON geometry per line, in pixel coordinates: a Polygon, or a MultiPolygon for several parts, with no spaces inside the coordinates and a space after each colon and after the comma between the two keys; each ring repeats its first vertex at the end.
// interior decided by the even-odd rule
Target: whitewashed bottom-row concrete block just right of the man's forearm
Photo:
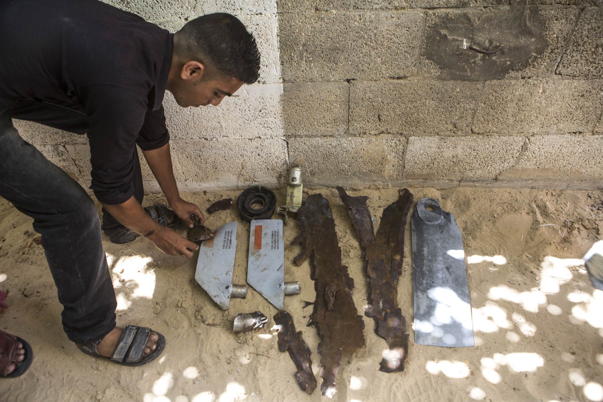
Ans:
{"type": "Polygon", "coordinates": [[[185,187],[235,187],[276,184],[287,168],[283,138],[174,141],[176,180],[185,187]]]}

